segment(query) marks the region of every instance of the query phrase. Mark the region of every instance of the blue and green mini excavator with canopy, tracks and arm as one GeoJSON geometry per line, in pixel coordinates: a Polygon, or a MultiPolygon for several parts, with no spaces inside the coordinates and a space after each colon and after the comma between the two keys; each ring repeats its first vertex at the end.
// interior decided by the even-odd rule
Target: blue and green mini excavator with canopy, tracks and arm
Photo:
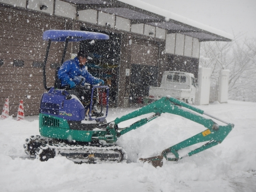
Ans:
{"type": "Polygon", "coordinates": [[[48,44],[43,63],[43,81],[47,92],[42,95],[39,114],[39,131],[41,135],[30,136],[30,138],[25,139],[24,144],[25,152],[32,158],[47,161],[49,158],[61,155],[75,163],[125,162],[127,154],[125,149],[114,144],[117,139],[123,134],[133,129],[138,129],[160,117],[162,113],[182,116],[206,128],[206,130],[195,136],[163,150],[158,156],[139,159],[139,161],[148,162],[154,167],[162,167],[164,158],[167,161],[178,161],[186,156],[192,156],[222,143],[234,128],[233,124],[211,116],[201,109],[170,96],[163,97],[107,123],[109,87],[88,85],[87,95],[81,96],[81,93],[76,88],[62,87],[57,73],[60,66],[56,68],[54,86],[47,87],[45,66],[51,42],[64,42],[60,63],[62,65],[68,43],[87,39],[107,40],[109,36],[103,33],[71,30],[48,30],[43,34],[43,40],[48,40],[48,44]],[[103,112],[103,102],[99,102],[101,103],[100,114],[102,115],[97,116],[93,113],[93,100],[98,100],[98,98],[102,100],[103,97],[100,95],[102,91],[100,90],[107,92],[107,104],[103,112]],[[85,116],[84,103],[87,103],[89,118],[85,116]],[[152,112],[154,115],[148,118],[143,118],[124,128],[118,127],[118,124],[123,121],[152,112]],[[202,114],[226,125],[218,125],[213,120],[203,117],[202,114]],[[197,143],[203,144],[185,156],[179,155],[179,150],[197,143]],[[172,158],[170,158],[170,154],[172,158]]]}

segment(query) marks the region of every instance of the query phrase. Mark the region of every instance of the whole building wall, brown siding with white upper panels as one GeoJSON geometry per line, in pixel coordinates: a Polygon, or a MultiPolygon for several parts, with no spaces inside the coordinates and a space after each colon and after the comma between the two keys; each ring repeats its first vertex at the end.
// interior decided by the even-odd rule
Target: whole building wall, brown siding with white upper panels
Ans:
{"type": "MultiPolygon", "coordinates": [[[[42,41],[42,34],[48,29],[80,30],[81,26],[86,26],[122,35],[118,82],[119,107],[123,106],[123,98],[130,94],[131,77],[126,76],[125,71],[131,69],[134,62],[158,67],[158,86],[163,71],[194,71],[196,77],[200,43],[194,38],[191,45],[191,37],[183,34],[167,34],[165,29],[146,24],[131,25],[130,20],[95,10],[78,11],[78,17],[73,5],[60,0],[57,0],[55,7],[52,7],[49,0],[29,0],[27,8],[22,3],[20,7],[13,7],[15,2],[22,1],[0,2],[4,3],[0,4],[0,59],[4,60],[4,65],[0,66],[0,108],[3,107],[5,98],[9,97],[10,114],[16,115],[20,99],[24,100],[25,115],[39,113],[40,98],[45,90],[42,83],[42,68],[33,67],[33,62],[43,62],[47,42],[42,41]],[[41,4],[47,5],[48,8],[40,10],[41,4]],[[106,23],[110,25],[106,26],[106,23]],[[176,44],[181,47],[178,49],[176,44]],[[143,51],[139,52],[141,57],[134,57],[133,51],[136,47],[143,48],[143,51]],[[178,53],[180,55],[177,55],[178,53]],[[171,61],[170,56],[173,55],[174,60],[171,61]],[[184,65],[186,59],[187,64],[184,65]],[[24,61],[24,66],[14,67],[14,60],[24,61]]],[[[62,43],[53,44],[47,61],[47,86],[54,83],[55,69],[49,66],[51,63],[60,62],[63,48],[62,43]]],[[[69,43],[65,60],[71,58],[72,53],[77,53],[78,48],[79,43],[69,43]]]]}

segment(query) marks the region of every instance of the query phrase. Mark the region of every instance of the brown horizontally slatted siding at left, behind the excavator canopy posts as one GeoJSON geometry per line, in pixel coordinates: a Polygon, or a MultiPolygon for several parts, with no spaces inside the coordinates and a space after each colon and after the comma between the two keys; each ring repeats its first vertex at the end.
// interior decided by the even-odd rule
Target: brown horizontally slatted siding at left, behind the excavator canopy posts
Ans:
{"type": "MultiPolygon", "coordinates": [[[[24,100],[25,115],[39,113],[40,99],[45,92],[42,68],[33,67],[33,62],[43,62],[47,42],[42,34],[48,29],[65,29],[65,22],[56,22],[50,17],[5,9],[0,10],[0,108],[9,98],[10,115],[16,116],[20,100],[24,100]],[[14,67],[13,61],[24,61],[23,67],[14,67]]],[[[50,63],[60,62],[62,43],[52,43],[47,61],[48,86],[53,85],[55,69],[50,63]]]]}

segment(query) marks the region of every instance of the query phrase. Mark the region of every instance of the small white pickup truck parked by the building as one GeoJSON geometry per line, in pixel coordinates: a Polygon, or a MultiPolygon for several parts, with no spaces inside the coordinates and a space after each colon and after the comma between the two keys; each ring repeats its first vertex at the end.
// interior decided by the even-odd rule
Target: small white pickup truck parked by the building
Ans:
{"type": "Polygon", "coordinates": [[[189,72],[165,71],[160,87],[149,87],[149,99],[159,100],[163,96],[171,96],[191,105],[196,94],[194,74],[189,72]]]}

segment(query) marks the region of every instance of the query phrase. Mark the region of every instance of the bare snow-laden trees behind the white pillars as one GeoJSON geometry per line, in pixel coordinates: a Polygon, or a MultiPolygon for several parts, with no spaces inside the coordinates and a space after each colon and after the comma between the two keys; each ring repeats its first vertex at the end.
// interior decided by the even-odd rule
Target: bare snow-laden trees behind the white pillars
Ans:
{"type": "Polygon", "coordinates": [[[229,69],[229,99],[256,102],[256,39],[236,36],[232,42],[201,42],[200,65],[212,69],[212,85],[229,69]]]}

